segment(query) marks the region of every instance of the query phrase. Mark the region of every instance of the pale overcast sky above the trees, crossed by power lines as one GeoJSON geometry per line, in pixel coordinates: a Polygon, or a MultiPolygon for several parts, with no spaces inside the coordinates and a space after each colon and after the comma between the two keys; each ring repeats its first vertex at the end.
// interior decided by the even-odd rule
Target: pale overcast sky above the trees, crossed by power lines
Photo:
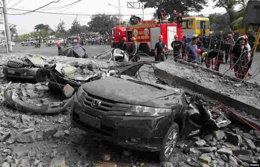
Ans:
{"type": "MultiPolygon", "coordinates": [[[[8,2],[9,0],[6,0],[8,2]]],[[[15,9],[23,9],[23,10],[35,10],[41,6],[44,6],[54,0],[10,0],[7,4],[8,8],[15,8],[15,9]],[[15,5],[17,2],[17,5],[15,5]],[[15,5],[15,6],[13,6],[15,5]],[[12,7],[13,6],[13,7],[12,7]]],[[[58,1],[58,0],[55,0],[58,1]]],[[[94,15],[97,13],[107,13],[107,14],[116,14],[119,13],[118,8],[114,6],[110,6],[109,4],[113,4],[115,6],[119,6],[118,0],[81,0],[78,3],[67,6],[62,9],[57,9],[58,7],[62,7],[68,5],[70,3],[76,2],[77,0],[60,0],[58,3],[52,3],[45,8],[39,10],[44,12],[55,12],[55,13],[69,13],[69,14],[86,14],[86,15],[94,15]],[[56,9],[55,9],[56,8],[56,9]],[[55,9],[55,10],[53,10],[55,9]]],[[[121,13],[122,15],[138,15],[141,14],[142,17],[142,10],[141,9],[129,9],[127,8],[127,2],[137,2],[137,0],[120,0],[121,4],[121,13]]],[[[215,8],[213,9],[214,3],[212,0],[209,0],[208,3],[209,7],[206,7],[202,10],[202,14],[210,14],[215,12],[226,12],[224,8],[215,8]]],[[[144,10],[145,14],[153,13],[155,11],[154,8],[147,8],[144,10]]],[[[17,11],[17,10],[8,10],[7,13],[10,14],[18,14],[24,13],[25,11],[17,11]]],[[[178,11],[177,11],[178,12],[178,11]]],[[[191,14],[201,14],[201,13],[191,13],[191,14]]],[[[18,34],[29,33],[34,30],[34,26],[37,24],[48,24],[50,25],[51,29],[55,30],[55,25],[59,23],[60,19],[63,19],[66,22],[66,29],[69,29],[71,23],[76,16],[72,15],[60,15],[60,14],[46,14],[46,13],[37,13],[33,12],[30,14],[25,15],[8,15],[9,24],[16,24],[18,34]]],[[[130,16],[124,16],[123,19],[129,19],[130,16]]],[[[145,19],[149,20],[152,18],[151,15],[145,15],[145,19]]],[[[81,25],[85,25],[90,21],[90,16],[78,16],[81,25]]]]}

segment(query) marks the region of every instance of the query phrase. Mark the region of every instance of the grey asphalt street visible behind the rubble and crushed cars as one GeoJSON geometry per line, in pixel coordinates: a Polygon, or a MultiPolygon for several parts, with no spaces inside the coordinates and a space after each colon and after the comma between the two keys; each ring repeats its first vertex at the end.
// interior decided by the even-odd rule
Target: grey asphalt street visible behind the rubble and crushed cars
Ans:
{"type": "MultiPolygon", "coordinates": [[[[95,54],[95,53],[100,53],[102,51],[110,49],[110,45],[90,45],[90,46],[87,45],[87,46],[83,46],[83,47],[87,50],[89,57],[92,57],[93,54],[95,54]]],[[[6,52],[6,48],[0,47],[0,52],[6,52]]],[[[45,46],[44,43],[42,43],[41,48],[35,48],[34,46],[21,46],[20,43],[16,43],[16,45],[13,46],[13,52],[42,54],[42,55],[46,55],[48,57],[48,56],[57,55],[58,49],[57,49],[57,46],[47,47],[47,46],[45,46]]],[[[256,76],[253,79],[249,80],[249,82],[252,82],[252,83],[257,82],[257,83],[260,84],[260,74],[257,74],[257,71],[258,71],[257,69],[260,66],[260,64],[259,64],[259,62],[260,62],[259,54],[260,54],[259,52],[257,52],[255,54],[255,57],[254,57],[254,60],[253,60],[253,63],[252,63],[252,67],[249,71],[250,74],[252,74],[253,76],[254,75],[256,75],[256,76]]],[[[169,59],[171,59],[171,58],[169,58],[169,59]]],[[[151,59],[149,57],[145,57],[145,56],[142,56],[141,59],[140,59],[140,61],[145,61],[145,60],[151,60],[151,59]]],[[[228,70],[229,66],[230,66],[229,64],[222,64],[220,66],[219,71],[221,73],[226,72],[226,75],[229,75],[229,76],[235,76],[233,70],[228,70]]],[[[146,66],[143,66],[140,69],[140,71],[143,71],[143,72],[140,73],[141,78],[148,80],[148,73],[145,72],[145,71],[149,71],[149,68],[146,67],[146,66]]],[[[152,69],[150,69],[150,71],[152,71],[152,69]]],[[[152,80],[152,82],[155,81],[155,79],[153,79],[151,74],[149,75],[149,79],[152,80]]]]}

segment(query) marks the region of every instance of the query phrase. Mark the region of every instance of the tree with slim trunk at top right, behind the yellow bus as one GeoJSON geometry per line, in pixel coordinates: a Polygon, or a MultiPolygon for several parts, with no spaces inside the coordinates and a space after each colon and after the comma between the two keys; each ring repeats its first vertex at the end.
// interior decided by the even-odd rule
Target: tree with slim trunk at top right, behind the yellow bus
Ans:
{"type": "MultiPolygon", "coordinates": [[[[232,23],[236,19],[236,12],[235,12],[235,6],[239,3],[238,0],[213,0],[213,2],[216,2],[214,8],[225,8],[226,11],[229,14],[229,21],[232,23]]],[[[231,24],[229,24],[231,30],[233,30],[233,27],[231,24]]]]}

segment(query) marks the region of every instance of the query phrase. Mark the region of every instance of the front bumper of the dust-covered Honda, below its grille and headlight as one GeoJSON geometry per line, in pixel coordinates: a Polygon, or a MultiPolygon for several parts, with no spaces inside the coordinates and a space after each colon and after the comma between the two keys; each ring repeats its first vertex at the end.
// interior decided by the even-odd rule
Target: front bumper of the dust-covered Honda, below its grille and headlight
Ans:
{"type": "Polygon", "coordinates": [[[81,106],[74,95],[71,103],[71,125],[88,132],[101,140],[114,142],[122,147],[158,151],[161,149],[164,134],[170,128],[172,116],[134,117],[125,112],[107,111],[97,114],[90,107],[81,106]],[[82,110],[81,110],[82,108],[82,110]]]}

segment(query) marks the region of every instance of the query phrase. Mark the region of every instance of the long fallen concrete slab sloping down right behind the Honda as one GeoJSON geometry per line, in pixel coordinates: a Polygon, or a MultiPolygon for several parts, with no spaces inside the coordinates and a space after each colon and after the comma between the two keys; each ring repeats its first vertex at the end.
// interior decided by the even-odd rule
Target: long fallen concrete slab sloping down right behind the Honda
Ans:
{"type": "MultiPolygon", "coordinates": [[[[189,68],[180,69],[180,67],[184,66],[186,67],[188,65],[177,64],[174,61],[160,62],[154,65],[154,74],[158,79],[163,80],[168,85],[174,87],[186,87],[187,89],[191,89],[194,92],[212,97],[215,100],[222,101],[227,106],[246,111],[248,114],[260,118],[260,99],[258,97],[252,97],[252,99],[250,100],[248,100],[248,98],[245,98],[243,93],[247,92],[247,86],[239,87],[239,91],[241,92],[240,95],[229,94],[229,96],[227,96],[226,94],[219,92],[220,88],[215,82],[199,83],[196,82],[197,78],[192,79],[191,77],[191,74],[192,76],[199,76],[202,72],[203,74],[205,74],[205,76],[212,76],[213,73],[217,73],[202,67],[199,67],[198,70],[193,70],[189,68]],[[252,103],[254,104],[252,105],[252,103]]],[[[230,79],[230,76],[226,79],[230,79]]],[[[252,85],[249,82],[246,82],[246,84],[252,85]]],[[[222,85],[221,92],[228,92],[229,90],[229,86],[222,85]]]]}

